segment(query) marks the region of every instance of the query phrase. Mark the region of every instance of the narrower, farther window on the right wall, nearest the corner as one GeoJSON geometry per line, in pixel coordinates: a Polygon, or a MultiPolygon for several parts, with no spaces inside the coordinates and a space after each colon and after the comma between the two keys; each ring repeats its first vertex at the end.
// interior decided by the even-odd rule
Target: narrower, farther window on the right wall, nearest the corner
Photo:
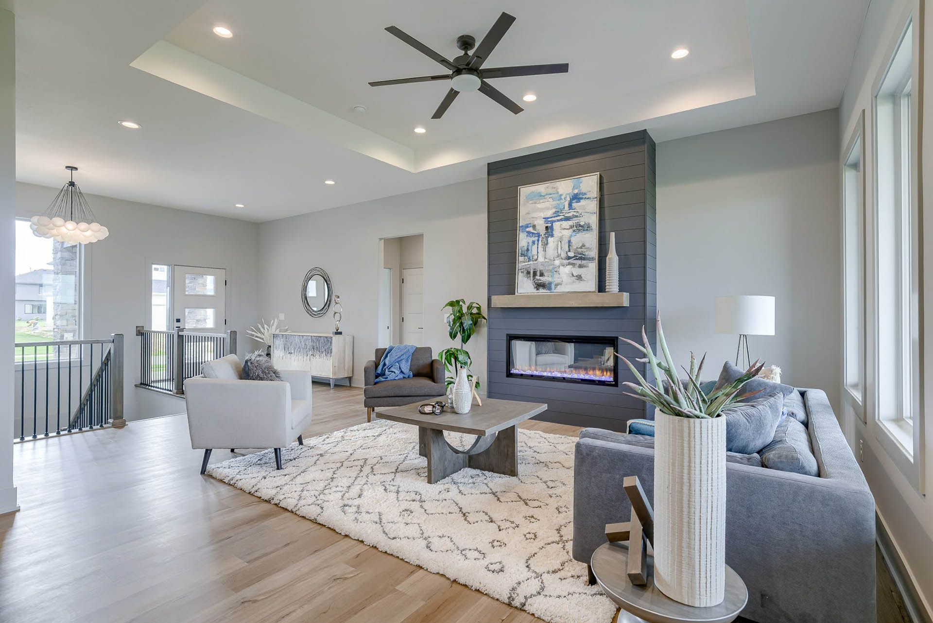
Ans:
{"type": "Polygon", "coordinates": [[[865,116],[846,145],[842,160],[845,388],[865,421],[865,180],[862,170],[865,116]]]}

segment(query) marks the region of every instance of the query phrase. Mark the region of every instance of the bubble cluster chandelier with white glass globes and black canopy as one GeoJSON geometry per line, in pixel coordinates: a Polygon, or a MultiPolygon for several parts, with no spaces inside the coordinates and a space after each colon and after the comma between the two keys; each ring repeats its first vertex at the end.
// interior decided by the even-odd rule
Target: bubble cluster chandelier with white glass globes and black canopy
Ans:
{"type": "Polygon", "coordinates": [[[65,167],[71,179],[59,190],[59,194],[41,215],[35,215],[29,226],[39,238],[51,238],[59,242],[88,244],[104,240],[110,232],[94,218],[91,206],[84,193],[75,184],[77,167],[65,167]]]}

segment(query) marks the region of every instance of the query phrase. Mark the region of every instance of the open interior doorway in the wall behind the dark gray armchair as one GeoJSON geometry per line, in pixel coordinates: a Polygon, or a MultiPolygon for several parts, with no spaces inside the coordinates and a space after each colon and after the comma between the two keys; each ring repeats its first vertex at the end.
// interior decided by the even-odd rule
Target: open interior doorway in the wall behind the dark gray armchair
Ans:
{"type": "Polygon", "coordinates": [[[425,236],[380,241],[378,344],[422,346],[425,332],[425,236]]]}

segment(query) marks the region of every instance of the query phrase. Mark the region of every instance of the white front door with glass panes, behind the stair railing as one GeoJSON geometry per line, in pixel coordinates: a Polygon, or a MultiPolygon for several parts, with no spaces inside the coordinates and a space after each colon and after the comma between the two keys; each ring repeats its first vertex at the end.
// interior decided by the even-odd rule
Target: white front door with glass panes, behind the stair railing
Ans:
{"type": "Polygon", "coordinates": [[[174,326],[202,333],[227,330],[227,271],[200,266],[172,267],[174,326]]]}

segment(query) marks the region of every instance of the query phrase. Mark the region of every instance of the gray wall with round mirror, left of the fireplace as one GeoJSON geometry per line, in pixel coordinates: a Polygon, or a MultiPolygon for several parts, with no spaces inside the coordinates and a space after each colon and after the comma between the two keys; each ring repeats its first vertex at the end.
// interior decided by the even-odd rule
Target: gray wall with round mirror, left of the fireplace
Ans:
{"type": "MultiPolygon", "coordinates": [[[[312,318],[301,308],[304,273],[327,270],[341,296],[341,329],[354,336],[354,385],[379,336],[379,275],[383,238],[424,234],[425,346],[434,353],[453,346],[441,306],[452,298],[485,307],[486,181],[470,180],[332,210],[293,216],[259,226],[261,257],[258,306],[266,318],[285,313],[292,331],[331,331],[330,314],[312,318]]],[[[485,381],[485,327],[466,345],[473,371],[485,381]]],[[[362,403],[360,403],[362,407],[362,403]]]]}

